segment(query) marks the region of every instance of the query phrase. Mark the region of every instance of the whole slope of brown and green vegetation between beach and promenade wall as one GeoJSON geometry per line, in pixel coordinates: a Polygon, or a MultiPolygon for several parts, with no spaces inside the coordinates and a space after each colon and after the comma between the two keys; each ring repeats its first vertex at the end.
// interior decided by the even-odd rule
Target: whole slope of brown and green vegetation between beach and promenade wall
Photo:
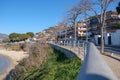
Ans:
{"type": "Polygon", "coordinates": [[[75,80],[81,60],[67,58],[60,51],[48,45],[32,48],[31,55],[16,66],[11,80],[75,80]],[[42,48],[42,49],[40,49],[42,48]],[[41,51],[42,50],[42,51],[41,51]]]}

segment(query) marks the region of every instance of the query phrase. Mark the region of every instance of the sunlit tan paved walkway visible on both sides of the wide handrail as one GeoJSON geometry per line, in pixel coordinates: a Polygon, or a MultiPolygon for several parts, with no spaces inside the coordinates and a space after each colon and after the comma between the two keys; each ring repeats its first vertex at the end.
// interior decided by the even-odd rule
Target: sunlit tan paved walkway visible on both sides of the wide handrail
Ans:
{"type": "MultiPolygon", "coordinates": [[[[78,48],[73,48],[73,47],[66,47],[66,46],[62,46],[62,47],[74,52],[82,60],[84,59],[84,48],[83,47],[80,47],[79,50],[78,48]]],[[[102,55],[102,56],[104,60],[106,61],[106,63],[108,64],[108,66],[112,69],[113,73],[116,75],[118,80],[120,80],[120,60],[116,60],[106,55],[102,55]]]]}

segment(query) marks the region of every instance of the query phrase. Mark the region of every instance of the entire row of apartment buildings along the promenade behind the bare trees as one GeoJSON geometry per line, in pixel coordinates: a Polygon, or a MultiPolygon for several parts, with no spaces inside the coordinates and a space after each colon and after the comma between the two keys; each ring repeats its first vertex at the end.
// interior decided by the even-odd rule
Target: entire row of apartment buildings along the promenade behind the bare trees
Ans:
{"type": "MultiPolygon", "coordinates": [[[[100,19],[101,15],[98,15],[100,19]]],[[[120,17],[116,11],[106,12],[105,26],[104,26],[104,41],[105,45],[120,46],[120,17]]],[[[92,16],[84,22],[78,22],[76,27],[77,40],[94,41],[95,44],[101,44],[101,24],[96,16],[92,16]],[[87,31],[86,31],[87,30],[87,31]],[[87,32],[87,34],[86,34],[87,32]]],[[[57,40],[70,41],[75,40],[75,27],[68,26],[58,32],[57,40]]]]}

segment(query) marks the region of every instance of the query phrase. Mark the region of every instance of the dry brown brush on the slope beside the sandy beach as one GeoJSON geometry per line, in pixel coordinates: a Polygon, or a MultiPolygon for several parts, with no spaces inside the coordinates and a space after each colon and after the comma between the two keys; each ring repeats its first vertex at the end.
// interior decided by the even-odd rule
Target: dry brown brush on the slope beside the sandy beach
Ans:
{"type": "Polygon", "coordinates": [[[53,53],[53,49],[47,44],[40,45],[36,43],[32,44],[31,47],[26,47],[29,48],[29,57],[23,59],[19,65],[15,67],[15,70],[13,71],[14,77],[11,80],[14,80],[14,78],[18,79],[28,70],[38,68],[48,59],[49,55],[53,53]]]}

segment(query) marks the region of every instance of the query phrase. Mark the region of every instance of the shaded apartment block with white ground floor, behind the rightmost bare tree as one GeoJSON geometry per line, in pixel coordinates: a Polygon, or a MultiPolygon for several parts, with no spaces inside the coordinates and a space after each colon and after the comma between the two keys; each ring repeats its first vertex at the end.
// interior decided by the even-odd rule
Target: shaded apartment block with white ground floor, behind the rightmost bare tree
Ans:
{"type": "MultiPolygon", "coordinates": [[[[99,15],[100,17],[100,15],[99,15]]],[[[119,36],[120,29],[120,17],[117,15],[116,11],[108,11],[106,12],[106,20],[104,26],[104,41],[105,45],[115,45],[113,40],[117,40],[117,43],[120,42],[119,39],[115,38],[115,36],[119,36]],[[114,35],[113,35],[114,34],[114,35]],[[114,37],[114,38],[113,38],[114,37]]],[[[88,32],[90,33],[91,39],[94,39],[97,45],[101,44],[101,26],[98,22],[98,18],[92,17],[89,20],[88,32]]]]}

